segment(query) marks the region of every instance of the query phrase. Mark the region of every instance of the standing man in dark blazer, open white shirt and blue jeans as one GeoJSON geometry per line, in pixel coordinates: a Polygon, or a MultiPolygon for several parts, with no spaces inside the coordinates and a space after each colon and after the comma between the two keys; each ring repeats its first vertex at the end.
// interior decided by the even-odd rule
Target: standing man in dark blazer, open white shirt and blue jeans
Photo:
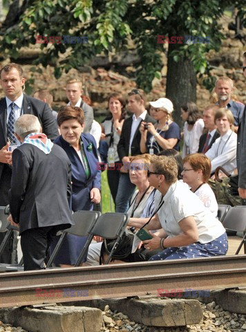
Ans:
{"type": "Polygon", "coordinates": [[[131,156],[141,154],[140,124],[142,121],[155,123],[155,120],[149,116],[145,109],[144,91],[133,89],[129,93],[128,107],[133,116],[124,120],[120,141],[117,145],[117,152],[124,167],[122,167],[119,190],[115,199],[116,212],[126,212],[128,210],[129,200],[135,190],[135,185],[131,183],[129,178],[129,164],[131,156]]]}

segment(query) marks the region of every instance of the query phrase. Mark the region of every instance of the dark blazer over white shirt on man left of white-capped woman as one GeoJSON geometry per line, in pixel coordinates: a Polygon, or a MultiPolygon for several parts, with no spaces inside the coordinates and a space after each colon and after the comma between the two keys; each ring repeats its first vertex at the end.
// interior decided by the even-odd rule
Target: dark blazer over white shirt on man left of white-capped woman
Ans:
{"type": "MultiPolygon", "coordinates": [[[[141,120],[142,122],[143,120],[141,120]]],[[[146,116],[144,118],[145,122],[151,122],[155,124],[155,120],[149,116],[148,113],[146,113],[146,116]]],[[[140,124],[141,124],[140,122],[140,124]]],[[[122,160],[123,157],[129,156],[129,145],[130,145],[130,138],[131,138],[131,124],[133,123],[133,117],[130,116],[130,118],[126,118],[124,120],[124,124],[122,127],[122,134],[120,136],[120,141],[117,145],[117,152],[119,155],[120,160],[122,160]]],[[[133,142],[131,144],[131,155],[137,156],[138,154],[141,154],[140,151],[140,140],[141,140],[141,133],[139,131],[140,124],[138,125],[137,130],[135,131],[135,135],[133,137],[133,142]]]]}

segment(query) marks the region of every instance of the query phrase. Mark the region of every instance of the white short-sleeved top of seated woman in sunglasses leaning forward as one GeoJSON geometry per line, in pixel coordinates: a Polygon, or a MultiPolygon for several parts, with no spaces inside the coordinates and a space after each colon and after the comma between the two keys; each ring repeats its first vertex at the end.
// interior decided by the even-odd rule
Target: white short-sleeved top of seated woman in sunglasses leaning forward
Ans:
{"type": "MultiPolygon", "coordinates": [[[[155,208],[158,208],[161,196],[160,192],[156,193],[155,208]]],[[[196,221],[199,234],[198,242],[200,243],[211,242],[225,233],[222,223],[205,208],[198,196],[180,181],[169,187],[163,200],[164,204],[158,211],[158,217],[168,237],[182,234],[178,223],[188,216],[193,216],[196,221]]]]}

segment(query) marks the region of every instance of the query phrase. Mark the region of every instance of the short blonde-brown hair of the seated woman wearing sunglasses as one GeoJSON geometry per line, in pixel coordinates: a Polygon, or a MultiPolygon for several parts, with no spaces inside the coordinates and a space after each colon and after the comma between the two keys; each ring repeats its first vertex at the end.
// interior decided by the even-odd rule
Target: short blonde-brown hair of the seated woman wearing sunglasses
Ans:
{"type": "Polygon", "coordinates": [[[164,175],[168,184],[171,185],[178,180],[178,165],[175,158],[153,155],[151,165],[153,165],[153,172],[164,175]]]}

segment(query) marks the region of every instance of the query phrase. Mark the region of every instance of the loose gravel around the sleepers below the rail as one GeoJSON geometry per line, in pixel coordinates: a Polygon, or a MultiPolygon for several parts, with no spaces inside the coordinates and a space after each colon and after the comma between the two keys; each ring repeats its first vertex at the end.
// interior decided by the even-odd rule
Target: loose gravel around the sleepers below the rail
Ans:
{"type": "MultiPolygon", "coordinates": [[[[144,326],[128,319],[122,313],[112,312],[109,306],[106,306],[103,312],[104,327],[102,332],[245,332],[246,315],[229,313],[223,311],[215,302],[202,304],[203,322],[197,325],[161,328],[153,326],[144,326]]],[[[10,324],[0,322],[0,332],[28,332],[20,326],[13,327],[10,324]]],[[[30,331],[29,331],[30,332],[30,331]]],[[[52,332],[52,331],[47,331],[52,332]]],[[[74,331],[79,332],[79,331],[74,331]]]]}

